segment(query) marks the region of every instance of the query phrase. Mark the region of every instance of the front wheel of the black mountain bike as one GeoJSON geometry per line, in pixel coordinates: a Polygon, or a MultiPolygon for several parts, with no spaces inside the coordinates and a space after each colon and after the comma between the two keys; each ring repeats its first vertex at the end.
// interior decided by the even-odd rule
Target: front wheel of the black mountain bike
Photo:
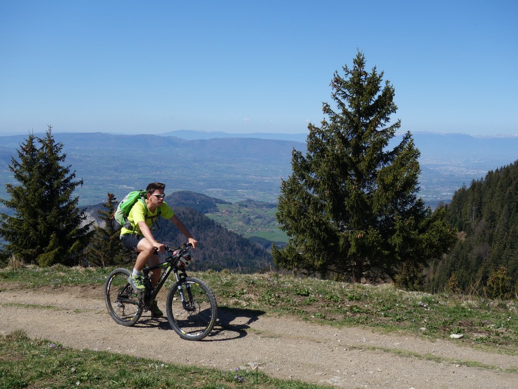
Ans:
{"type": "Polygon", "coordinates": [[[186,277],[169,289],[167,319],[182,339],[200,340],[214,327],[218,311],[210,287],[195,277],[186,277]]]}

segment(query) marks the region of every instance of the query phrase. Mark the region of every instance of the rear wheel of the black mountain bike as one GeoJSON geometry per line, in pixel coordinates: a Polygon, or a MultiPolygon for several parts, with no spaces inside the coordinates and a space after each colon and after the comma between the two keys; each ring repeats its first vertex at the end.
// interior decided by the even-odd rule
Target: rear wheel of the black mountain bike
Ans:
{"type": "Polygon", "coordinates": [[[106,308],[110,316],[118,324],[133,326],[142,314],[136,293],[127,278],[131,272],[127,269],[115,269],[109,275],[105,284],[106,308]]]}

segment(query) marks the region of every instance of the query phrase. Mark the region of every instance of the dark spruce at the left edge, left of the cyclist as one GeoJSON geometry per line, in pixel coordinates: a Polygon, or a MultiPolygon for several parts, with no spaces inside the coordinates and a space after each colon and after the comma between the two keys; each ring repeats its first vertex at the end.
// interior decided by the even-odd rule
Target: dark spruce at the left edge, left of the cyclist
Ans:
{"type": "Polygon", "coordinates": [[[30,134],[20,144],[18,160],[11,157],[9,170],[20,185],[7,184],[10,199],[0,199],[13,210],[12,216],[0,214],[0,237],[7,242],[2,244],[4,261],[15,256],[39,266],[82,262],[92,223],[78,209],[79,198],[72,197],[82,180],[63,165],[62,149],[49,126],[45,137],[30,134]]]}

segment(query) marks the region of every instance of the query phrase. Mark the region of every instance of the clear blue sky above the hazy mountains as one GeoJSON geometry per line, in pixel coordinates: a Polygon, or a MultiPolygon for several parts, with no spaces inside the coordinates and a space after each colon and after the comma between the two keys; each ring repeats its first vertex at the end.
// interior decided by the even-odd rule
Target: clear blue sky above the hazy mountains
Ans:
{"type": "Polygon", "coordinates": [[[517,4],[0,0],[0,135],[305,133],[357,49],[402,130],[518,134],[517,4]]]}

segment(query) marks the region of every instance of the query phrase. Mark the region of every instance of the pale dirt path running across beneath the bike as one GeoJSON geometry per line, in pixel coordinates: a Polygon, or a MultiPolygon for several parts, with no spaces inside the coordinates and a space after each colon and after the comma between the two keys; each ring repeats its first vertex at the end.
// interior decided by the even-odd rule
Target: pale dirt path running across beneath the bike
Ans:
{"type": "Polygon", "coordinates": [[[343,388],[518,388],[518,373],[498,370],[518,369],[518,356],[472,350],[450,340],[338,330],[247,309],[221,309],[213,334],[200,342],[181,340],[165,318],[145,315],[135,327],[123,327],[107,313],[102,289],[2,291],[0,332],[22,329],[75,349],[260,369],[278,378],[343,388]],[[466,366],[473,362],[494,368],[466,366]]]}

